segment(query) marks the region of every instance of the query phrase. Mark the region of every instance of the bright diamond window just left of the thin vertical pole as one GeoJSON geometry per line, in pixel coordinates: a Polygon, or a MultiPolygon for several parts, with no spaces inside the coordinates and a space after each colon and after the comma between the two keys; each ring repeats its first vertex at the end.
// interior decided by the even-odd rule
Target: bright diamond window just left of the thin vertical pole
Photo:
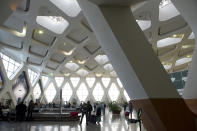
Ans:
{"type": "Polygon", "coordinates": [[[55,86],[53,83],[50,83],[48,88],[45,90],[45,97],[48,101],[48,103],[52,102],[53,99],[55,98],[57,91],[55,89],[55,86]]]}

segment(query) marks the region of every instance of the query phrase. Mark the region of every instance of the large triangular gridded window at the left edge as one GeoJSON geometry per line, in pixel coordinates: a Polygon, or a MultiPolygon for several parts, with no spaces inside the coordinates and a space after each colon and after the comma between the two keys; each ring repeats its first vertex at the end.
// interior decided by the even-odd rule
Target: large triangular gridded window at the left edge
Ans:
{"type": "Polygon", "coordinates": [[[11,59],[10,57],[4,55],[3,53],[0,53],[0,57],[3,61],[3,65],[7,73],[7,76],[9,79],[11,79],[13,75],[16,73],[16,71],[19,69],[20,64],[17,61],[11,59]]]}

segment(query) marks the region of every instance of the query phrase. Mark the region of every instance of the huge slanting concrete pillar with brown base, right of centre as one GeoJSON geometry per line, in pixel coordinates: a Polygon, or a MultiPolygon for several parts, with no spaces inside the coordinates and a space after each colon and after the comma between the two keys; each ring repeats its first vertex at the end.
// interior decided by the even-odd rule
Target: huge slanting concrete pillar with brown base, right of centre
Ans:
{"type": "Polygon", "coordinates": [[[130,6],[78,0],[135,108],[150,131],[195,130],[194,115],[169,79],[130,6]]]}

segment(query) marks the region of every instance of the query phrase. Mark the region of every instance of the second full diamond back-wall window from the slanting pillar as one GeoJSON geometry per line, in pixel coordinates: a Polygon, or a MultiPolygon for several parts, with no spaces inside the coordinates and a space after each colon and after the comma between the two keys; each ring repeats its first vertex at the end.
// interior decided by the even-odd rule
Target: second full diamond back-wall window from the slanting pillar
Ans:
{"type": "Polygon", "coordinates": [[[101,87],[100,83],[97,83],[94,90],[93,90],[93,96],[96,101],[101,101],[104,95],[104,90],[101,87]]]}

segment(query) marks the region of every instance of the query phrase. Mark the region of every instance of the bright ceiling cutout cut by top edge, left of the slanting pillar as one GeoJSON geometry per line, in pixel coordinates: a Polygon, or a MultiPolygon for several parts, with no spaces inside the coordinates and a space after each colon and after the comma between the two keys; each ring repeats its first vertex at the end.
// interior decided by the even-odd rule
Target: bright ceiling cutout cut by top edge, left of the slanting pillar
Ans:
{"type": "Polygon", "coordinates": [[[76,17],[81,11],[81,8],[77,0],[50,0],[50,1],[70,17],[76,17]]]}

